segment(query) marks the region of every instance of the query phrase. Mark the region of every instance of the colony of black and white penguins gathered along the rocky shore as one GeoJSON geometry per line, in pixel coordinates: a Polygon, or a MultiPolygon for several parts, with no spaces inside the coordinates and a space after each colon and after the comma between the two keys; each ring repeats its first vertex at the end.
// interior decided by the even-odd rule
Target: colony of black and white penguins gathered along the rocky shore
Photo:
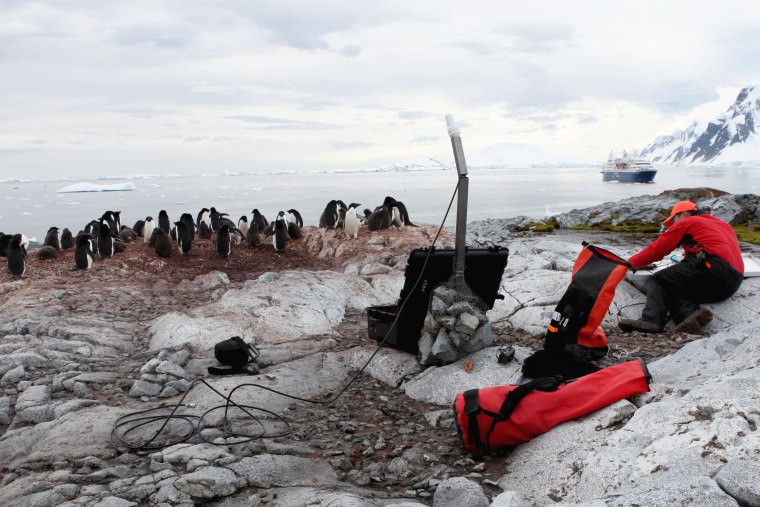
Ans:
{"type": "MultiPolygon", "coordinates": [[[[346,239],[357,239],[363,226],[369,231],[391,226],[416,227],[409,220],[404,204],[392,197],[386,197],[374,211],[359,212],[360,206],[360,203],[346,206],[341,200],[329,201],[319,218],[319,227],[343,230],[346,239]]],[[[160,210],[157,216],[157,221],[146,216],[128,227],[121,224],[120,211],[106,211],[100,218],[88,222],[76,236],[68,228],[61,231],[53,226],[36,254],[40,260],[55,259],[59,252],[74,248],[74,268],[86,270],[96,262],[124,252],[128,243],[139,238],[162,258],[175,252],[193,255],[192,245],[197,240],[212,240],[217,256],[225,259],[240,245],[254,248],[269,242],[276,252],[284,253],[289,241],[301,239],[304,226],[301,214],[292,208],[279,211],[272,222],[257,208],[251,210],[250,216],[241,216],[237,223],[213,206],[202,208],[195,218],[190,213],[182,213],[178,220],[172,221],[166,210],[160,210]]],[[[29,239],[23,234],[0,232],[0,257],[6,258],[7,271],[13,279],[26,273],[28,248],[29,239]]]]}

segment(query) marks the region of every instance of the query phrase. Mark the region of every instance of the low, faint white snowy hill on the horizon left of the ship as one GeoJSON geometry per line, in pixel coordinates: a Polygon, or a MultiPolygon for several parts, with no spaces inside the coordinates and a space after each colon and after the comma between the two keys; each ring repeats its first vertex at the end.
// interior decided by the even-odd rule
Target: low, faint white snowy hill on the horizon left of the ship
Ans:
{"type": "Polygon", "coordinates": [[[465,157],[468,167],[576,167],[596,164],[578,157],[550,153],[523,143],[493,144],[472,153],[465,151],[465,157]]]}

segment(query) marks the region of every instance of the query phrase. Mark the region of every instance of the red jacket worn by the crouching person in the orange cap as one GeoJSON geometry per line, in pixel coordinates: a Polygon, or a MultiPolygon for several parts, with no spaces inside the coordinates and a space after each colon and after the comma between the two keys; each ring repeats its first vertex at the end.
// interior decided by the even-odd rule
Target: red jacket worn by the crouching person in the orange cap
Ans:
{"type": "Polygon", "coordinates": [[[641,268],[659,261],[679,246],[683,246],[686,257],[697,255],[700,247],[704,247],[705,253],[720,257],[744,274],[744,261],[734,230],[712,215],[692,215],[679,220],[628,262],[641,268]]]}

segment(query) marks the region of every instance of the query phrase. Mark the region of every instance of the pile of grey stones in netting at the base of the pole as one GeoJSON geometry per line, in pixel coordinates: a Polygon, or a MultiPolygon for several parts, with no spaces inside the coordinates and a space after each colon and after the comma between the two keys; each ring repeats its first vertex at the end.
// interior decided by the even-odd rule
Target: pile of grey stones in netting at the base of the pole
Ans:
{"type": "Polygon", "coordinates": [[[449,364],[493,343],[485,305],[465,292],[447,285],[433,290],[419,341],[422,366],[449,364]]]}

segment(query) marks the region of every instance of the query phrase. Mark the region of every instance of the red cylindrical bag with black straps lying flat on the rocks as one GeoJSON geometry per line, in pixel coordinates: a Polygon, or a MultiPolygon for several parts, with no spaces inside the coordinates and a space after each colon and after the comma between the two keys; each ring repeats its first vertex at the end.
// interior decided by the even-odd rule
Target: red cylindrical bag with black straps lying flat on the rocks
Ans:
{"type": "Polygon", "coordinates": [[[563,382],[543,377],[519,386],[470,389],[454,398],[454,417],[465,450],[476,457],[527,442],[565,421],[649,391],[641,359],[563,382]]]}

